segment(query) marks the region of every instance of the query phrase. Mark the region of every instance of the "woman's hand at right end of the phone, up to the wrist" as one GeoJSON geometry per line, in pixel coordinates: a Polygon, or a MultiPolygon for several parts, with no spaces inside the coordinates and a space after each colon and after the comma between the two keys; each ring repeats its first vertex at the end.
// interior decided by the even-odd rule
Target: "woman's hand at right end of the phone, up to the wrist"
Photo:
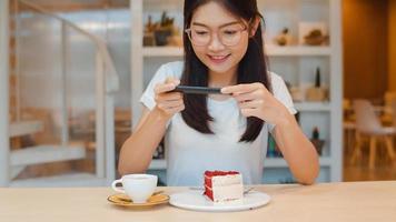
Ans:
{"type": "Polygon", "coordinates": [[[245,117],[256,117],[271,124],[280,124],[291,117],[286,107],[263,83],[225,87],[221,93],[231,94],[245,117]]]}

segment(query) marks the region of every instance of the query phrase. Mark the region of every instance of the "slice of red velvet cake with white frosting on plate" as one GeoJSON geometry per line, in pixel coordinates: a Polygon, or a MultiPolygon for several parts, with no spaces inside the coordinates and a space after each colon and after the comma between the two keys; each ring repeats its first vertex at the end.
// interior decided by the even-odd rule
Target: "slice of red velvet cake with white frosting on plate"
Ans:
{"type": "Polygon", "coordinates": [[[236,171],[205,171],[205,193],[214,202],[244,198],[242,176],[236,171]]]}

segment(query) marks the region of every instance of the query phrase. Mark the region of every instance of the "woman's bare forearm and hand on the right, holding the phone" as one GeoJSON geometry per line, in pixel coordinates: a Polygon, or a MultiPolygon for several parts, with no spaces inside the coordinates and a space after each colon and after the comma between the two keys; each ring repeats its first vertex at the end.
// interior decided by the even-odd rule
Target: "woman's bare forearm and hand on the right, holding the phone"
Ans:
{"type": "Polygon", "coordinates": [[[245,117],[256,117],[277,125],[275,140],[293,175],[303,184],[313,184],[319,172],[314,145],[305,137],[294,117],[261,83],[238,84],[221,89],[239,103],[245,117]]]}

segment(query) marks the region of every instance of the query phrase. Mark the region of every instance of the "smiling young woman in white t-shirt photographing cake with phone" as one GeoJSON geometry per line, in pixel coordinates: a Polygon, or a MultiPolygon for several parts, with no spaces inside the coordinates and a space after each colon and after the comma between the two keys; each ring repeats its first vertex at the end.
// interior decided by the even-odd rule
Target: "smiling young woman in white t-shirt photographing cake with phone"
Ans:
{"type": "Polygon", "coordinates": [[[185,1],[185,60],[159,68],[120,153],[121,174],[145,172],[165,135],[168,185],[201,185],[206,170],[261,182],[270,132],[296,180],[314,183],[318,157],[293,114],[283,79],[267,71],[256,0],[185,1]],[[178,84],[222,94],[169,92],[178,84]]]}

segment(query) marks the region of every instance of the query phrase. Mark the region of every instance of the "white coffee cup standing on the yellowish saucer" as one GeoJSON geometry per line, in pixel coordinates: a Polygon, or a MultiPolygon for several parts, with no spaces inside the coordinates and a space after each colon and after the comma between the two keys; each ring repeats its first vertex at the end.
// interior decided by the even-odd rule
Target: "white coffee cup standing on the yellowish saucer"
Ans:
{"type": "Polygon", "coordinates": [[[112,182],[112,190],[126,193],[133,203],[146,203],[157,188],[157,175],[151,174],[127,174],[112,182]],[[117,188],[118,183],[122,189],[117,188]]]}

